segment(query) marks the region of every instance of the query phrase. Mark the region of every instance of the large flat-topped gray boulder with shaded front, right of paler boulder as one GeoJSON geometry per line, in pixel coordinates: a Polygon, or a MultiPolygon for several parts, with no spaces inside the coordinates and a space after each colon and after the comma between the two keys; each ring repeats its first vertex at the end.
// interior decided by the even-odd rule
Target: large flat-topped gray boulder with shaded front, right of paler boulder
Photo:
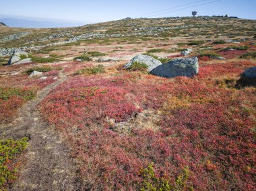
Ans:
{"type": "Polygon", "coordinates": [[[193,77],[199,71],[197,57],[175,59],[166,64],[160,65],[151,71],[153,75],[160,77],[193,77]]]}

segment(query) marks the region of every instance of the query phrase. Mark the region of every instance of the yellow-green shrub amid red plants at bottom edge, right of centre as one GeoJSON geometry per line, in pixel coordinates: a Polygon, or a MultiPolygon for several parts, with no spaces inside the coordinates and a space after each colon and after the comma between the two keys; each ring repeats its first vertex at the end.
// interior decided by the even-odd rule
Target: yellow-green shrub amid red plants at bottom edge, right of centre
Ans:
{"type": "Polygon", "coordinates": [[[146,169],[141,169],[139,175],[143,180],[139,185],[139,190],[141,191],[193,190],[193,187],[189,186],[187,183],[189,178],[189,167],[187,166],[183,169],[183,173],[177,177],[173,184],[170,180],[156,177],[153,163],[148,165],[146,169]]]}

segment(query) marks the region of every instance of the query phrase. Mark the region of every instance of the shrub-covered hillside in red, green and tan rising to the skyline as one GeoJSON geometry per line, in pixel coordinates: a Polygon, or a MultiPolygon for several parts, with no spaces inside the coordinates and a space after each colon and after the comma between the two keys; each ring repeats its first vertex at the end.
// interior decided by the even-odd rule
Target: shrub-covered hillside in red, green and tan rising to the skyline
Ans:
{"type": "MultiPolygon", "coordinates": [[[[256,92],[240,79],[245,69],[255,66],[254,29],[253,20],[198,17],[191,22],[187,17],[31,30],[32,39],[63,32],[72,36],[100,32],[111,37],[32,50],[30,64],[6,66],[9,57],[2,56],[0,123],[11,123],[22,104],[64,73],[67,81],[38,107],[67,139],[79,164],[80,190],[255,190],[256,92]],[[199,75],[193,78],[156,77],[146,72],[143,63],[123,69],[137,54],[166,63],[184,57],[181,51],[187,48],[194,50],[189,56],[199,56],[199,75]],[[29,77],[32,71],[42,71],[47,78],[29,77]]],[[[20,30],[26,31],[9,28],[11,34],[20,30]]],[[[25,38],[1,43],[3,47],[25,45],[25,38]]],[[[12,150],[7,143],[18,144],[1,141],[5,178],[0,189],[18,175],[15,165],[9,165],[12,150]]],[[[18,157],[20,152],[14,154],[18,157]]],[[[47,154],[51,158],[51,152],[47,154]]],[[[55,166],[58,161],[49,163],[55,166]]],[[[46,180],[47,175],[38,177],[46,180]]]]}

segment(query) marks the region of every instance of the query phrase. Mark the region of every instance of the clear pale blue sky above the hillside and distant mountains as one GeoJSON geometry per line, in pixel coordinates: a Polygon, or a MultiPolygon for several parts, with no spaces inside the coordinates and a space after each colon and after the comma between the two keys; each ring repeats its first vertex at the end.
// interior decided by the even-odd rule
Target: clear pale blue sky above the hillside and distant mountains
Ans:
{"type": "MultiPolygon", "coordinates": [[[[215,3],[191,7],[214,0],[205,0],[187,6],[180,5],[200,0],[0,0],[0,15],[18,17],[41,17],[74,22],[105,22],[125,17],[187,16],[191,11],[199,15],[229,15],[256,19],[256,0],[221,0],[215,3]],[[169,9],[163,14],[145,15],[169,9]],[[188,9],[183,9],[190,7],[188,9]],[[181,9],[181,10],[178,10],[181,9]]],[[[216,0],[215,0],[216,1],[216,0]]],[[[160,13],[162,13],[160,12],[160,13]]]]}

